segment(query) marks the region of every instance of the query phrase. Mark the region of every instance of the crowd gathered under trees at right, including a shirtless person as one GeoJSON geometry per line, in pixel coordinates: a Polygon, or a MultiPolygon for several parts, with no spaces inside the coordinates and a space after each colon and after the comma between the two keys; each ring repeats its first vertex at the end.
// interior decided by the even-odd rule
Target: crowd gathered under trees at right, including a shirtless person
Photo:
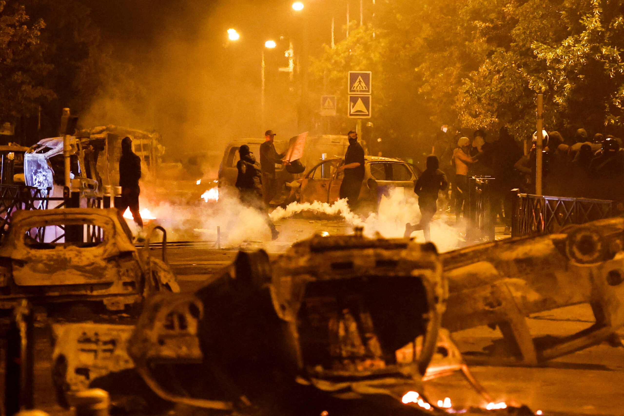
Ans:
{"type": "MultiPolygon", "coordinates": [[[[490,186],[493,214],[510,226],[511,190],[535,193],[536,143],[537,132],[527,142],[525,154],[523,143],[505,127],[498,135],[478,129],[472,138],[459,131],[454,138],[448,133],[439,137],[434,152],[451,182],[449,209],[455,211],[457,220],[466,208],[468,178],[488,176],[495,178],[490,186]]],[[[624,201],[624,148],[620,138],[600,133],[588,138],[583,128],[565,138],[559,132],[544,132],[542,149],[543,195],[624,201]]]]}

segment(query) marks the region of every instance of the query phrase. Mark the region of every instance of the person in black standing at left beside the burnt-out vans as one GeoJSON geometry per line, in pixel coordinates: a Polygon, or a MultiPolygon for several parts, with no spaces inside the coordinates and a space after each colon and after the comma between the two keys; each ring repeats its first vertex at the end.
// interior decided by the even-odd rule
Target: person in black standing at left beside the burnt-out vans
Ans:
{"type": "Polygon", "coordinates": [[[141,228],[143,219],[139,213],[139,179],[141,178],[141,158],[132,152],[132,139],[124,137],[121,141],[121,157],[119,158],[119,186],[121,186],[121,205],[117,206],[120,213],[130,208],[132,218],[141,228]]]}

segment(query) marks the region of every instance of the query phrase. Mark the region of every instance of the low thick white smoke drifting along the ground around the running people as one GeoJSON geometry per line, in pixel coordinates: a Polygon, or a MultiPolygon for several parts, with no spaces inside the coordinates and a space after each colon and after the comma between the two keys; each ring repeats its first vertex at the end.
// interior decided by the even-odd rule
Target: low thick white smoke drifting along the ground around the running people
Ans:
{"type": "MultiPolygon", "coordinates": [[[[240,203],[238,191],[234,188],[219,188],[219,200],[205,202],[200,198],[190,200],[188,195],[175,197],[172,191],[157,189],[155,186],[143,186],[141,194],[141,208],[149,208],[152,215],[168,232],[169,241],[217,241],[217,227],[220,228],[220,243],[222,248],[238,248],[241,245],[261,246],[271,243],[271,232],[266,225],[265,217],[240,203]],[[162,195],[167,195],[163,201],[162,195]]],[[[346,200],[328,203],[291,203],[286,208],[276,208],[270,214],[278,230],[280,238],[275,241],[273,249],[283,249],[295,243],[298,239],[308,238],[318,232],[319,225],[328,224],[327,216],[339,221],[329,221],[333,224],[342,222],[343,227],[338,232],[349,233],[349,228],[362,226],[364,234],[371,238],[381,235],[385,238],[401,238],[406,223],[417,223],[420,220],[420,210],[415,196],[404,195],[402,189],[393,190],[390,197],[383,196],[378,213],[371,213],[366,217],[359,216],[349,210],[346,200]],[[306,211],[305,220],[289,219],[306,211]],[[317,213],[318,220],[310,220],[309,213],[317,213]],[[325,218],[325,219],[321,219],[325,218]],[[314,223],[314,224],[311,224],[314,223]],[[279,247],[278,247],[279,246],[279,247]]],[[[137,233],[134,221],[128,221],[137,233]]],[[[332,232],[336,232],[332,231],[332,232]]],[[[422,231],[415,231],[412,237],[424,242],[422,231]]],[[[431,223],[431,239],[439,251],[448,251],[457,248],[460,243],[456,229],[446,225],[443,220],[431,223]]],[[[269,248],[271,249],[271,248],[269,248]]]]}

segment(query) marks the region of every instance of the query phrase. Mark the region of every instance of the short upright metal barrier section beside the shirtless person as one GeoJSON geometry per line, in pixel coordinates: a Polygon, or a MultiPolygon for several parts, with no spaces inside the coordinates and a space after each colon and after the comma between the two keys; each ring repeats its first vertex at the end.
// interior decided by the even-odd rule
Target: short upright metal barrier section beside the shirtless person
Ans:
{"type": "Polygon", "coordinates": [[[470,177],[467,184],[467,199],[464,201],[466,241],[494,241],[495,203],[492,193],[492,177],[470,177]]]}

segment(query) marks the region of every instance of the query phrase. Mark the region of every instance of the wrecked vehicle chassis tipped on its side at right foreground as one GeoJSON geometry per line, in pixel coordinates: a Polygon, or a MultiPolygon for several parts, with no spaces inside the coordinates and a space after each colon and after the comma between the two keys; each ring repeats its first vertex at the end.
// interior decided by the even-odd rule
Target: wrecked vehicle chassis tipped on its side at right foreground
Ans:
{"type": "Polygon", "coordinates": [[[498,326],[508,354],[491,358],[502,364],[537,365],[605,340],[622,345],[623,247],[620,217],[441,254],[450,293],[442,326],[498,326]],[[587,329],[562,339],[530,334],[530,314],[583,303],[595,316],[587,329]]]}

